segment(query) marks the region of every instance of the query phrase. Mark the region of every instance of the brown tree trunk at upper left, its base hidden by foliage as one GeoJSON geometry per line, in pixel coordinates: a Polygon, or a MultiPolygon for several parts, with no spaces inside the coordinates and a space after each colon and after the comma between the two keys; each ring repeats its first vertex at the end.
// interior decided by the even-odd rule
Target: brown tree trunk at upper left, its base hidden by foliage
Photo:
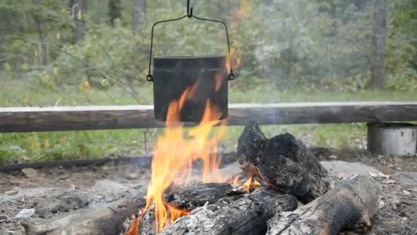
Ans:
{"type": "Polygon", "coordinates": [[[75,21],[75,42],[82,43],[86,30],[87,0],[71,0],[71,8],[75,21]]]}

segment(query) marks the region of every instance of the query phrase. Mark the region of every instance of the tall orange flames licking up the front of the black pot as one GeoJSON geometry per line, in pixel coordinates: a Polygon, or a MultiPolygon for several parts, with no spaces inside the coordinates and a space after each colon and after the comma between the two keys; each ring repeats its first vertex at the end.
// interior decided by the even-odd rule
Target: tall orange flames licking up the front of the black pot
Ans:
{"type": "MultiPolygon", "coordinates": [[[[207,100],[200,124],[191,128],[186,137],[184,137],[185,130],[180,125],[180,110],[184,102],[193,96],[196,86],[187,89],[179,100],[169,104],[167,128],[154,147],[152,178],[147,188],[145,211],[149,210],[151,205],[155,205],[156,232],[180,216],[189,214],[188,211],[179,210],[165,203],[164,192],[174,181],[180,183],[189,181],[193,161],[204,160],[202,181],[222,181],[222,175],[219,172],[221,158],[217,156],[216,148],[219,139],[225,133],[225,123],[218,121],[219,110],[213,107],[210,100],[207,100]],[[213,126],[219,122],[221,125],[214,132],[213,126]]],[[[136,221],[140,221],[140,218],[136,221]]],[[[134,226],[136,225],[131,227],[134,226]]],[[[136,231],[134,229],[129,231],[131,230],[136,231]]]]}

